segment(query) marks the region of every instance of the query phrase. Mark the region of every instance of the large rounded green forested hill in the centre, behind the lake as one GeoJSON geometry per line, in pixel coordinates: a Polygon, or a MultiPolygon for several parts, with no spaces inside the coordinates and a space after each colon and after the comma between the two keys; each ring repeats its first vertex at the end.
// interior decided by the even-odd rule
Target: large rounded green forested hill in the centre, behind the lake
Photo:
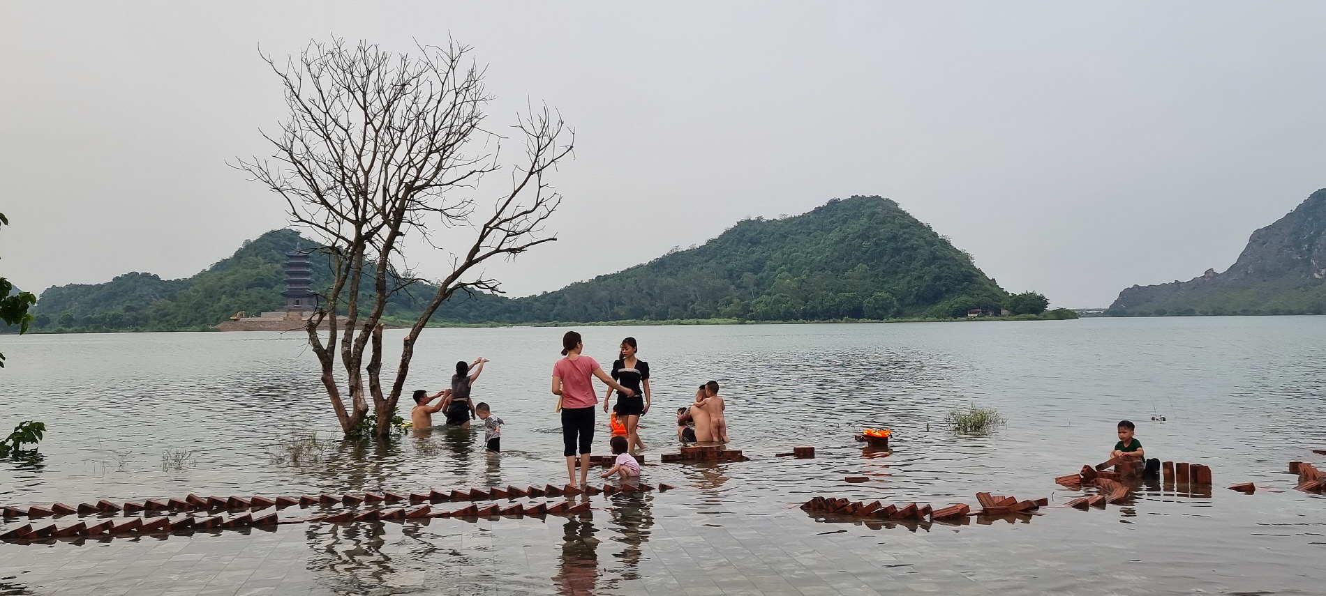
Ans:
{"type": "Polygon", "coordinates": [[[745,220],[679,250],[561,290],[489,303],[492,321],[825,321],[997,314],[1008,294],[890,199],[831,200],[745,220]]]}

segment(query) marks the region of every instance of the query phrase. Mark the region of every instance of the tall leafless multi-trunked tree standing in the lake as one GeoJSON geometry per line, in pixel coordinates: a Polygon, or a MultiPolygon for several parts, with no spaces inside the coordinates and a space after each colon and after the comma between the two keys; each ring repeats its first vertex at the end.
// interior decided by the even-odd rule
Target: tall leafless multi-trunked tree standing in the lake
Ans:
{"type": "Polygon", "coordinates": [[[546,106],[530,109],[514,126],[525,155],[511,188],[477,199],[480,179],[500,170],[501,136],[483,127],[492,101],[484,72],[469,58],[471,48],[455,41],[418,49],[416,56],[392,54],[333,40],[310,42],[284,65],[264,57],[284,86],[290,118],[280,134],[264,132],[276,150],[272,158],[237,164],[281,195],[293,223],[313,230],[330,256],[333,283],[306,331],[346,434],[367,415],[370,399],[377,434],[390,434],[415,342],[432,314],[456,291],[500,291],[477,265],[556,240],[540,237],[561,203],[545,175],[570,154],[573,132],[546,106]],[[404,338],[385,389],[379,322],[391,294],[422,281],[403,266],[402,242],[416,233],[432,244],[430,224],[468,228],[473,236],[451,253],[451,273],[431,279],[436,291],[404,338]],[[324,322],[325,332],[318,330],[324,322]],[[338,342],[345,391],[334,376],[338,342]]]}

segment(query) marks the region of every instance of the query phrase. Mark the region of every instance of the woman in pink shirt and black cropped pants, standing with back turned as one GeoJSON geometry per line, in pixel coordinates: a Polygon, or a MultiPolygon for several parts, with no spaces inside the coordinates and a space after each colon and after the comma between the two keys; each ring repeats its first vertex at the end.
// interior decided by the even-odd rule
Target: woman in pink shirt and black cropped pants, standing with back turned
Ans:
{"type": "Polygon", "coordinates": [[[622,387],[593,358],[581,355],[583,344],[575,331],[566,331],[562,336],[562,355],[566,356],[553,364],[553,395],[562,397],[562,444],[566,448],[566,475],[570,477],[570,486],[586,485],[589,475],[589,453],[594,444],[594,405],[598,396],[590,376],[626,396],[635,392],[622,387]],[[579,448],[581,477],[575,483],[575,450],[579,448]]]}

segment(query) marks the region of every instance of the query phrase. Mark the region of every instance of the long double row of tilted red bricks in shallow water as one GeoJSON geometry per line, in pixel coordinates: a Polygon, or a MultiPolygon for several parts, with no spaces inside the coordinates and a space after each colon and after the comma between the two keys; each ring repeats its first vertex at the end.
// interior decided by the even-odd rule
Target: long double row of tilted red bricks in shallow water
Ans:
{"type": "MultiPolygon", "coordinates": [[[[668,490],[672,486],[658,485],[658,490],[668,490]]],[[[19,507],[4,507],[4,519],[13,519],[20,517],[28,517],[29,519],[40,519],[46,517],[62,517],[62,515],[101,515],[93,521],[77,522],[68,526],[58,526],[56,523],[33,527],[32,523],[23,524],[4,534],[0,534],[0,540],[9,542],[32,542],[42,540],[48,538],[81,538],[81,536],[117,536],[117,535],[143,535],[143,534],[175,534],[187,532],[194,530],[210,530],[210,528],[241,528],[241,527],[274,527],[281,523],[309,523],[309,522],[329,522],[329,523],[345,523],[345,522],[367,522],[377,519],[426,519],[426,518],[496,518],[496,517],[541,517],[545,514],[575,514],[589,510],[589,503],[572,503],[569,501],[561,501],[556,503],[532,503],[521,505],[514,503],[507,507],[499,505],[489,505],[487,507],[479,507],[477,505],[468,505],[452,511],[434,511],[431,505],[422,505],[410,510],[410,506],[419,505],[422,502],[440,503],[447,501],[495,501],[495,499],[516,499],[521,497],[560,497],[560,495],[594,495],[594,494],[614,494],[614,493],[631,493],[631,491],[650,491],[654,486],[640,483],[640,485],[622,485],[621,487],[613,485],[605,485],[602,489],[594,486],[586,486],[583,489],[574,486],[557,487],[548,485],[545,487],[529,487],[517,489],[508,486],[507,489],[472,489],[472,490],[452,490],[450,493],[443,493],[439,490],[431,490],[427,493],[365,493],[365,494],[345,494],[339,498],[329,494],[321,495],[302,495],[302,497],[199,497],[191,494],[183,499],[149,499],[143,502],[126,502],[123,505],[111,501],[102,499],[95,505],[82,503],[77,507],[70,507],[64,503],[54,503],[50,507],[44,506],[30,506],[28,509],[19,507]],[[345,505],[345,506],[358,506],[361,503],[375,505],[375,503],[402,503],[400,507],[395,509],[367,509],[363,511],[339,511],[334,514],[313,515],[308,518],[286,518],[280,519],[276,511],[267,514],[260,513],[243,513],[239,515],[231,515],[225,518],[223,515],[213,515],[219,510],[267,510],[267,509],[285,509],[292,506],[309,507],[309,506],[330,506],[330,505],[345,505]],[[404,505],[411,503],[411,505],[404,505]],[[105,518],[106,514],[115,515],[123,513],[129,519],[113,519],[105,518]],[[204,515],[184,515],[180,518],[171,518],[174,511],[202,511],[204,515]],[[142,513],[142,517],[137,514],[142,513]]]]}

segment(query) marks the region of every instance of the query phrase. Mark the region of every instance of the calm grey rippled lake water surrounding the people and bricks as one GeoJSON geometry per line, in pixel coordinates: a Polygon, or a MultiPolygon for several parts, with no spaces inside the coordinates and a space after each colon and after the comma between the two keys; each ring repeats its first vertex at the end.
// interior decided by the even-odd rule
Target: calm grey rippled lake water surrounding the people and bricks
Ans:
{"type": "MultiPolygon", "coordinates": [[[[781,546],[792,567],[768,563],[780,576],[770,581],[801,593],[887,591],[809,577],[817,564],[806,554],[831,564],[838,550],[880,567],[846,570],[853,577],[878,571],[902,591],[1326,593],[1326,498],[1293,490],[1286,473],[1289,461],[1326,464],[1311,453],[1326,449],[1326,317],[579,331],[605,367],[623,336],[639,340],[654,375],[642,430],[651,464],[676,450],[674,412],[711,379],[728,400],[729,449],[752,460],[647,466],[647,482],[679,490],[595,498],[587,519],[434,521],[424,532],[375,524],[354,530],[367,534],[358,538],[343,526],[282,526],[281,550],[298,559],[308,592],[709,593],[709,583],[686,584],[687,566],[705,577],[757,577],[758,563],[739,552],[785,542],[798,550],[781,546]],[[996,408],[1008,424],[980,437],[945,430],[944,415],[967,405],[996,408]],[[1209,465],[1213,493],[1151,486],[1126,507],[961,527],[869,527],[790,507],[817,494],[975,506],[977,491],[1061,505],[1082,493],[1053,478],[1103,461],[1120,419],[1138,424],[1148,456],[1209,465]],[[892,453],[865,453],[851,438],[862,428],[894,429],[892,453]],[[814,445],[818,457],[773,457],[794,445],[814,445]],[[871,481],[843,481],[854,474],[871,481]],[[1224,489],[1236,482],[1282,491],[1224,489]],[[725,544],[713,555],[721,562],[699,554],[705,543],[725,544]]],[[[387,331],[386,343],[399,346],[403,332],[387,331]]],[[[408,389],[446,387],[456,360],[492,360],[473,395],[507,421],[501,458],[484,454],[481,430],[434,432],[385,448],[332,441],[321,464],[302,466],[278,461],[282,438],[338,430],[300,334],[0,336],[0,428],[48,428],[38,460],[0,461],[0,505],[561,485],[549,376],[562,332],[431,328],[419,343],[408,389]],[[183,460],[171,465],[163,452],[183,460]]],[[[599,453],[606,441],[605,429],[599,453]]],[[[190,540],[239,552],[249,539],[168,542],[190,540]]],[[[60,573],[46,571],[84,573],[72,562],[89,548],[0,544],[0,575],[11,577],[0,593],[58,593],[50,577],[60,573]],[[28,567],[40,577],[25,579],[28,567]]],[[[707,581],[740,592],[720,579],[707,581]]]]}

